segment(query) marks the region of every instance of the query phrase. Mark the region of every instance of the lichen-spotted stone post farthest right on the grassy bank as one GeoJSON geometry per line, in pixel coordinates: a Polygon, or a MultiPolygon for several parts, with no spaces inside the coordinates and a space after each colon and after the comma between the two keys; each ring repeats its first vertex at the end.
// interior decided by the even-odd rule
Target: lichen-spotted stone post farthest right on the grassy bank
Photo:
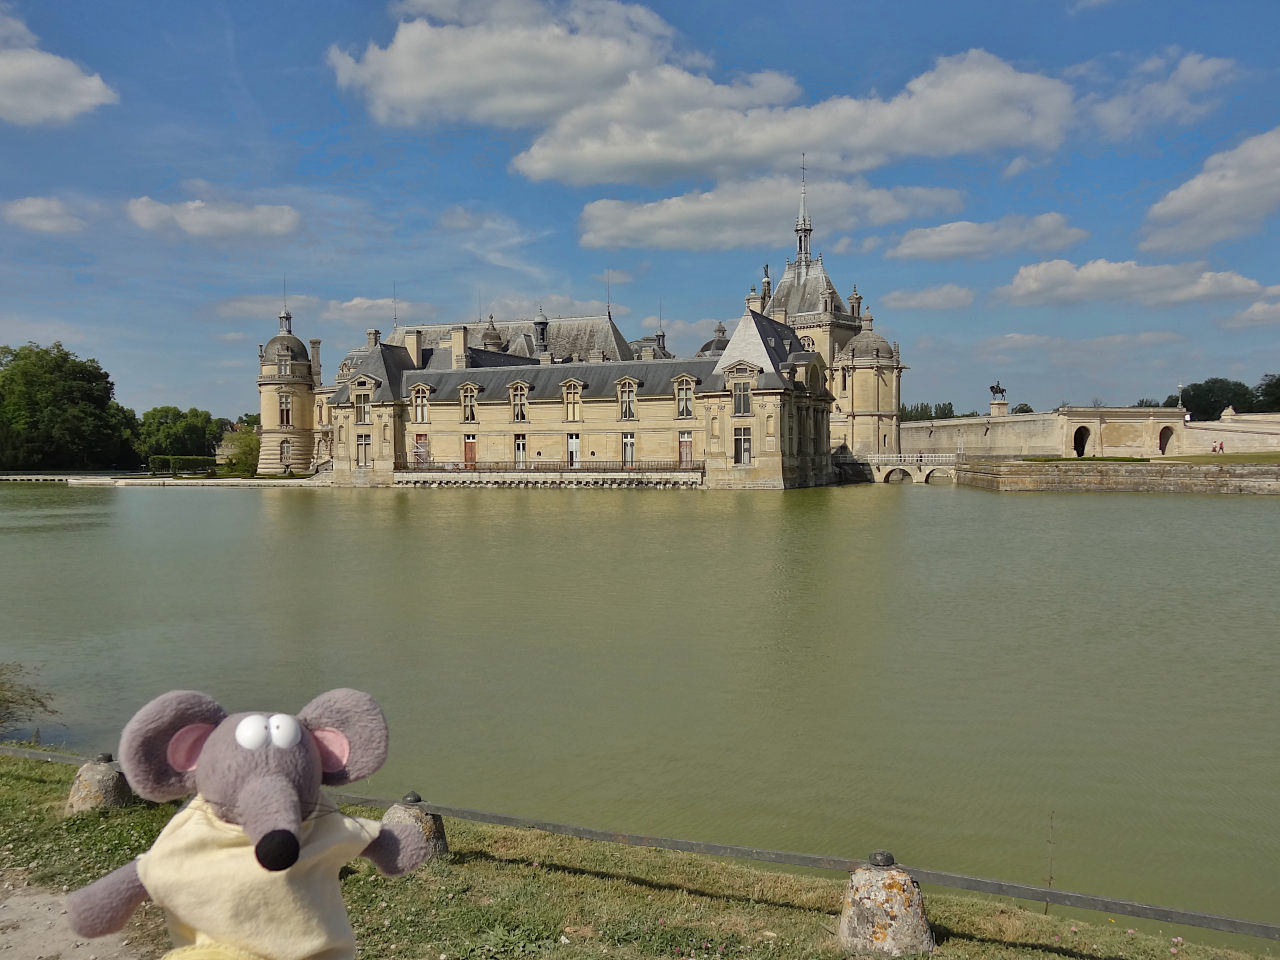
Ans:
{"type": "Polygon", "coordinates": [[[869,867],[859,867],[845,887],[836,940],[850,954],[909,956],[936,946],[924,919],[924,897],[910,874],[893,865],[893,855],[877,850],[869,867]]]}

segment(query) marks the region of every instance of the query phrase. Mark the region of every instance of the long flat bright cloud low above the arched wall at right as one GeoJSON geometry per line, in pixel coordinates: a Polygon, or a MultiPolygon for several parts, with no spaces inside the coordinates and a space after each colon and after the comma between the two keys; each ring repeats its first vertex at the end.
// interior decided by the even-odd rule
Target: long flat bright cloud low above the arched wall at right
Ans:
{"type": "Polygon", "coordinates": [[[1046,260],[1019,268],[1012,282],[996,292],[1014,303],[1111,300],[1172,306],[1258,297],[1266,291],[1248,276],[1206,270],[1203,262],[1143,266],[1133,260],[1091,260],[1076,266],[1066,260],[1046,260]]]}

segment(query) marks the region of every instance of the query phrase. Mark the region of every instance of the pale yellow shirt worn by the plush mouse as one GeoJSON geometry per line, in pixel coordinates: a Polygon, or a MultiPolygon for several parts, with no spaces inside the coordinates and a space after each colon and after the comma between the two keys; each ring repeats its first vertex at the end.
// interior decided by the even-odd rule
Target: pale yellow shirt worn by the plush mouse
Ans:
{"type": "Polygon", "coordinates": [[[165,909],[175,947],[225,945],[262,960],[352,960],[356,937],[338,870],[380,829],[378,820],[321,809],[302,824],[298,861],[268,870],[244,829],[219,819],[197,794],[138,858],[138,878],[165,909]]]}

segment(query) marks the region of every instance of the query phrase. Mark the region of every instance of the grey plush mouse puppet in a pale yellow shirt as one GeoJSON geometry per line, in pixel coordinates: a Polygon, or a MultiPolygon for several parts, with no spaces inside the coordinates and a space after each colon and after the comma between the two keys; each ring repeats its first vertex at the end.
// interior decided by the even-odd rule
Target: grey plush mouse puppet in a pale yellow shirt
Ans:
{"type": "Polygon", "coordinates": [[[320,794],[387,759],[387,719],[358,690],[288,713],[233,713],[191,690],[156,698],[120,737],[134,792],[195,792],[151,850],[67,900],[72,929],[101,937],[146,899],[165,909],[183,960],[349,960],[356,941],[338,870],[366,856],[396,876],[426,856],[411,824],[346,817],[320,794]]]}

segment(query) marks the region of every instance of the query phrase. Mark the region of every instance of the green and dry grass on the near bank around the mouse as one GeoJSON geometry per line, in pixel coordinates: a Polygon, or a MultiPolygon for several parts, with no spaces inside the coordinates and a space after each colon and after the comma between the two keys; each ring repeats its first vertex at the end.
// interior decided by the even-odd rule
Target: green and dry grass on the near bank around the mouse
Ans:
{"type": "MultiPolygon", "coordinates": [[[[54,888],[97,879],[146,850],[172,804],[60,819],[73,768],[0,758],[0,873],[54,888]]],[[[376,810],[352,813],[378,817],[376,810]]],[[[545,956],[548,960],[786,957],[837,960],[842,882],[669,850],[447,820],[451,856],[388,878],[343,868],[362,960],[545,956]]],[[[1248,960],[1253,955],[1087,924],[1007,902],[928,896],[938,960],[1248,960]]],[[[131,937],[156,956],[160,911],[131,937]]]]}

